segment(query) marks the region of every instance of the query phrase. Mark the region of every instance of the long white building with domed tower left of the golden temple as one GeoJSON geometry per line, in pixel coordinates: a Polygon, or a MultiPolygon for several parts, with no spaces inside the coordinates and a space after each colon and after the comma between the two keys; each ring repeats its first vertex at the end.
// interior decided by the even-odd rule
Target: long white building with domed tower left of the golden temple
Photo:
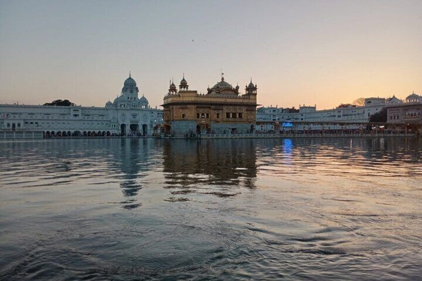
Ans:
{"type": "Polygon", "coordinates": [[[162,110],[151,108],[138,93],[129,74],[121,94],[105,107],[0,104],[0,130],[44,136],[152,135],[162,123],[162,110]]]}

